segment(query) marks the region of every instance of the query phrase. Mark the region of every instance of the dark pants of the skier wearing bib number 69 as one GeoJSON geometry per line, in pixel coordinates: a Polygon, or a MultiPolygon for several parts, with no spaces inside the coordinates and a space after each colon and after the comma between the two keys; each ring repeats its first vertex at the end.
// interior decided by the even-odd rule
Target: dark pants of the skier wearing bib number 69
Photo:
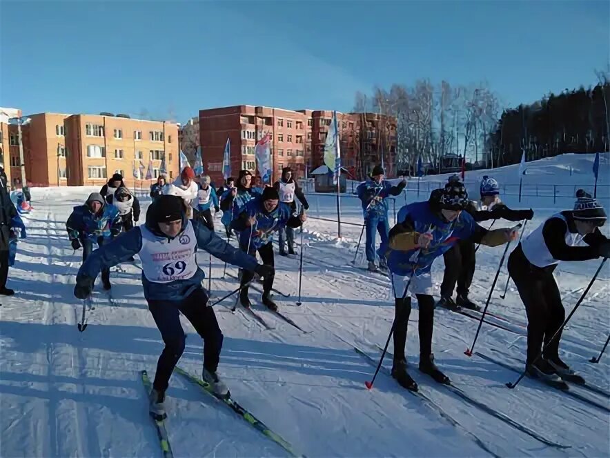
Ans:
{"type": "Polygon", "coordinates": [[[157,373],[153,381],[155,390],[167,390],[172,372],[184,352],[186,335],[180,325],[180,313],[204,339],[204,368],[216,372],[223,335],[214,309],[208,306],[204,288],[197,288],[181,301],[148,301],[148,310],[153,315],[165,344],[157,361],[157,373]]]}

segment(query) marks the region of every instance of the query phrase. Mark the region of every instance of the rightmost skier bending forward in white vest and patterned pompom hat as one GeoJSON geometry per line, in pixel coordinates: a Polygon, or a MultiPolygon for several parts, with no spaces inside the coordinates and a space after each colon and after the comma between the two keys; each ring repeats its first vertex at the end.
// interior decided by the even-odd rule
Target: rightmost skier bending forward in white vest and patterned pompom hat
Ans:
{"type": "Polygon", "coordinates": [[[508,263],[527,314],[527,373],[551,383],[561,383],[560,377],[584,382],[559,357],[561,332],[549,342],[565,319],[553,270],[560,261],[610,257],[610,241],[599,230],[606,212],[584,190],[576,196],[573,210],[556,213],[524,237],[508,263]],[[536,360],[543,343],[543,357],[536,360]]]}

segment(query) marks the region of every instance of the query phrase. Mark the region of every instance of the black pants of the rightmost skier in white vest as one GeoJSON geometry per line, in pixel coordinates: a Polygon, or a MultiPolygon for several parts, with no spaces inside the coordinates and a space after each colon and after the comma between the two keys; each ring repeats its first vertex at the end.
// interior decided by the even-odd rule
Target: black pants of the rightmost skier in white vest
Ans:
{"type": "Polygon", "coordinates": [[[544,358],[559,357],[561,331],[549,340],[564,322],[566,310],[561,302],[553,267],[539,268],[527,260],[521,243],[509,257],[509,275],[515,282],[527,314],[527,364],[532,364],[544,344],[544,358]]]}

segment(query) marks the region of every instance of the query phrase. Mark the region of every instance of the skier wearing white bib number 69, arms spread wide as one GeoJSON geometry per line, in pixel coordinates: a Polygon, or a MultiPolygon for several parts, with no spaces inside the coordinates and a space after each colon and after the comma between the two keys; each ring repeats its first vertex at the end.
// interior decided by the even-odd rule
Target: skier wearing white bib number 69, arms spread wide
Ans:
{"type": "Polygon", "coordinates": [[[254,257],[233,248],[197,219],[188,220],[184,210],[179,197],[159,197],[148,207],[144,226],[126,232],[90,255],[79,269],[74,289],[77,298],[86,299],[100,270],[139,255],[144,297],[165,343],[157,362],[149,407],[155,417],[161,418],[166,416],[164,399],[169,379],[184,352],[186,336],[180,326],[180,313],[204,339],[201,378],[217,395],[230,396],[217,374],[223,335],[213,308],[208,306],[208,293],[201,286],[205,275],[195,261],[197,248],[263,277],[273,277],[273,267],[257,264],[254,257]]]}

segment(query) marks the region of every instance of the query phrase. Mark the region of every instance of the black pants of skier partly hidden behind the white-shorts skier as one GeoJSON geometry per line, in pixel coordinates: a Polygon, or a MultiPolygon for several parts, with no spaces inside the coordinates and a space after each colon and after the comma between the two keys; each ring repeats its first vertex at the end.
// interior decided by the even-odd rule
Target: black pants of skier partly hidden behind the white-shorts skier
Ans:
{"type": "Polygon", "coordinates": [[[445,271],[440,286],[441,297],[453,297],[455,283],[458,283],[458,295],[468,297],[477,266],[475,243],[469,239],[460,240],[444,252],[443,259],[445,271]]]}

